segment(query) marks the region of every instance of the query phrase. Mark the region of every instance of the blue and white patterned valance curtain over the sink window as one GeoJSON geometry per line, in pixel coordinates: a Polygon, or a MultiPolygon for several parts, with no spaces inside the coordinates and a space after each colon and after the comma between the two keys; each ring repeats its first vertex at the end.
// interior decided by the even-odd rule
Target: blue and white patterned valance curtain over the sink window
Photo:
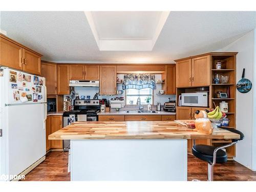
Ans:
{"type": "Polygon", "coordinates": [[[123,90],[144,88],[156,89],[154,74],[124,74],[123,90]]]}

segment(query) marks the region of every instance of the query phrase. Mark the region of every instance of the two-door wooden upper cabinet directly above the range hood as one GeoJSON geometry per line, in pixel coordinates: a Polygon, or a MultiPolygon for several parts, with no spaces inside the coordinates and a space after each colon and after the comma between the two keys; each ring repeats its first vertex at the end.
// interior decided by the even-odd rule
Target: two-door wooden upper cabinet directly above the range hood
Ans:
{"type": "Polygon", "coordinates": [[[99,80],[99,66],[70,65],[70,80],[99,80]]]}

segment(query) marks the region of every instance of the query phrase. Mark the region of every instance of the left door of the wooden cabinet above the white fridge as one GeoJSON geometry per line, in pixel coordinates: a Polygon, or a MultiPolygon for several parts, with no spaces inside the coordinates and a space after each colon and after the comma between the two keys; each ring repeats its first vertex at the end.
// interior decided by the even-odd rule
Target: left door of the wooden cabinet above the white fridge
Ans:
{"type": "Polygon", "coordinates": [[[23,48],[0,37],[0,65],[23,70],[23,48]]]}

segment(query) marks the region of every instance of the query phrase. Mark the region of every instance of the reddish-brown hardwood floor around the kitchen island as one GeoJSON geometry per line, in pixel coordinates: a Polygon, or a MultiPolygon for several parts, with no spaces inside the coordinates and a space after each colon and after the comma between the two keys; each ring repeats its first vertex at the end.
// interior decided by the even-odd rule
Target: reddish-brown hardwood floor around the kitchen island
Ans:
{"type": "MultiPolygon", "coordinates": [[[[25,181],[70,181],[68,173],[68,155],[61,151],[49,152],[46,160],[26,175],[25,181]]],[[[188,155],[187,179],[207,180],[207,163],[188,155]]],[[[217,164],[214,167],[215,181],[256,181],[256,172],[252,172],[236,161],[217,164]]]]}

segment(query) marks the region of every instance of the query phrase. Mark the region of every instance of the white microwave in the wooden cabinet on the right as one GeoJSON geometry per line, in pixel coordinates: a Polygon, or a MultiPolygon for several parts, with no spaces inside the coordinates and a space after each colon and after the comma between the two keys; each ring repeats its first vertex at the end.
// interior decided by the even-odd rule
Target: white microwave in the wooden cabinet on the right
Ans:
{"type": "Polygon", "coordinates": [[[182,93],[181,106],[208,106],[208,93],[182,93]]]}

